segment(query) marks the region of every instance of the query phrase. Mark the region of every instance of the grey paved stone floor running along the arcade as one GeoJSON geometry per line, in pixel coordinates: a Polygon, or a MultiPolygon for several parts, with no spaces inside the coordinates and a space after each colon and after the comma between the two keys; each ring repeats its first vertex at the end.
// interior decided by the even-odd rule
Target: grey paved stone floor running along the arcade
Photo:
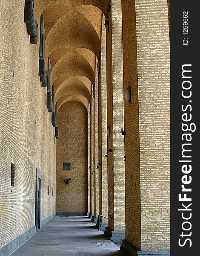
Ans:
{"type": "Polygon", "coordinates": [[[56,216],[11,256],[123,255],[87,216],[56,216]]]}

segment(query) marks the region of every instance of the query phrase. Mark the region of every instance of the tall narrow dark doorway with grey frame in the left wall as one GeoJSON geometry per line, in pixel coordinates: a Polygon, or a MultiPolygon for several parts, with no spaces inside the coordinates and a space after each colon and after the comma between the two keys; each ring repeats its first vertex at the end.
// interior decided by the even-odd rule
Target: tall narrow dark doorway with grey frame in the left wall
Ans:
{"type": "Polygon", "coordinates": [[[35,188],[35,225],[40,229],[41,215],[41,172],[36,169],[36,188],[35,188]]]}

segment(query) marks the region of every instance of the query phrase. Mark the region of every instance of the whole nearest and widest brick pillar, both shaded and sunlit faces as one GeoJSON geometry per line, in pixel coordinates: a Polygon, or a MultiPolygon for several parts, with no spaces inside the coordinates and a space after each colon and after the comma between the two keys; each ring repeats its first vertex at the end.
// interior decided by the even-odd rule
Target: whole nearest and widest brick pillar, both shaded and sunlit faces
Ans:
{"type": "Polygon", "coordinates": [[[166,255],[170,242],[170,52],[167,1],[122,0],[125,255],[166,255]],[[127,15],[129,13],[129,15],[127,15]],[[149,31],[151,30],[151,33],[149,31]],[[138,249],[138,250],[137,250],[138,249]]]}

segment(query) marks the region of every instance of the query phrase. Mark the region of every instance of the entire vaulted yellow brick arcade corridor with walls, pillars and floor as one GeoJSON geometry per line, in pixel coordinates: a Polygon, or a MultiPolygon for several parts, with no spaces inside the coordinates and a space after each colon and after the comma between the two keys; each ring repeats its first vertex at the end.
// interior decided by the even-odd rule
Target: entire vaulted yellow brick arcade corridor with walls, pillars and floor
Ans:
{"type": "Polygon", "coordinates": [[[0,256],[169,256],[169,9],[0,0],[0,256]]]}

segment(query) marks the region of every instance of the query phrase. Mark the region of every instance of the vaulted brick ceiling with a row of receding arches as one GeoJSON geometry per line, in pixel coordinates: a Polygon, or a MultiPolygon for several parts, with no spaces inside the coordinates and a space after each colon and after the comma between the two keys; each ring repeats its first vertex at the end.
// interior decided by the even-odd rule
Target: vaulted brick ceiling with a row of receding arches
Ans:
{"type": "MultiPolygon", "coordinates": [[[[45,58],[58,108],[75,100],[86,108],[101,47],[102,15],[109,0],[36,0],[43,11],[45,58]]],[[[35,3],[36,4],[36,3],[35,3]]]]}

